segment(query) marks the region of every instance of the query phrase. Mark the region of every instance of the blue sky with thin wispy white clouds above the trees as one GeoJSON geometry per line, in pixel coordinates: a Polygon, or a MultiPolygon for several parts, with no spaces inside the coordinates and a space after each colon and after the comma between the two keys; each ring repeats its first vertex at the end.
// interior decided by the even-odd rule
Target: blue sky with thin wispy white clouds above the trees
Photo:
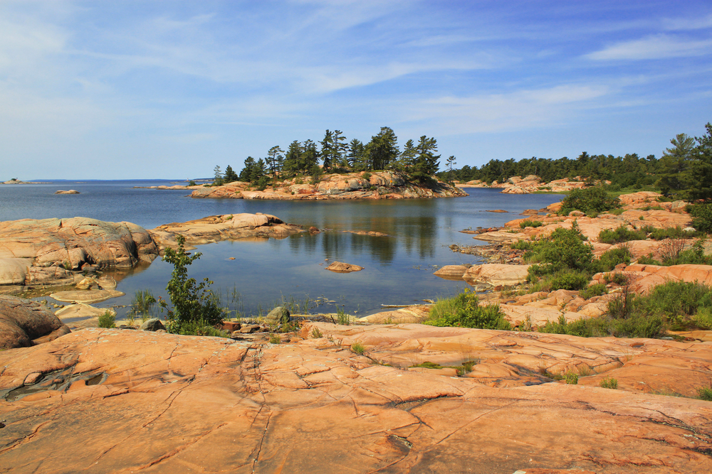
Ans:
{"type": "Polygon", "coordinates": [[[323,139],[457,167],[660,156],[712,121],[712,3],[0,0],[0,179],[210,176],[323,139]]]}

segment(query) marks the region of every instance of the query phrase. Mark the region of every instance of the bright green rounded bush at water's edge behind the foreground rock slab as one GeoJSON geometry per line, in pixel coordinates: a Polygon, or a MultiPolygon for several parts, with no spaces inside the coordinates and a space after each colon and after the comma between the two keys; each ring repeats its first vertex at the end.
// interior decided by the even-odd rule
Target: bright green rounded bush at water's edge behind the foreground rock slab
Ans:
{"type": "Polygon", "coordinates": [[[424,324],[454,326],[457,328],[511,330],[499,305],[479,306],[475,293],[465,290],[455,298],[438,300],[430,309],[430,318],[424,324]]]}

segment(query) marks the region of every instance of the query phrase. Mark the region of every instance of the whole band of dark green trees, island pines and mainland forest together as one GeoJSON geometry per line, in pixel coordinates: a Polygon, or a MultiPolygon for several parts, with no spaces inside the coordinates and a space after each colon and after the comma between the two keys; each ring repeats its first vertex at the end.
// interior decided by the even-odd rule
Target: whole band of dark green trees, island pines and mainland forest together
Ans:
{"type": "Polygon", "coordinates": [[[501,183],[512,176],[528,175],[549,182],[581,176],[591,183],[610,181],[608,188],[613,191],[648,189],[679,198],[712,200],[710,123],[706,124],[706,133],[701,137],[677,134],[660,158],[654,155],[642,157],[637,153],[590,155],[584,151],[576,158],[493,159],[479,168],[466,165],[458,169],[454,168],[456,158],[449,156],[442,171],[441,155],[436,154],[436,139],[425,135],[417,142],[409,139],[402,150],[397,141],[396,134],[388,126],[381,127],[367,144],[358,139],[347,141],[340,130],[326,130],[322,141],[295,140],[286,151],[273,146],[265,158],[248,156],[240,173],[231,166],[227,166],[223,173],[216,166],[215,184],[246,181],[265,188],[271,181],[294,176],[312,176],[318,180],[322,173],[379,170],[399,171],[411,181],[423,184],[430,183],[432,176],[449,183],[473,180],[501,183]]]}

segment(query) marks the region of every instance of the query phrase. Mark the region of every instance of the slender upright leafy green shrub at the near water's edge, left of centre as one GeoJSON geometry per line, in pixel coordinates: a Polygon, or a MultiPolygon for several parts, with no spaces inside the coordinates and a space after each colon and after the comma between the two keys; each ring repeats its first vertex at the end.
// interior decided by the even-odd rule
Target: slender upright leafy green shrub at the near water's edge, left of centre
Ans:
{"type": "Polygon", "coordinates": [[[178,248],[166,248],[164,262],[173,264],[171,279],[166,290],[173,305],[168,308],[167,301],[159,298],[159,305],[167,311],[166,328],[169,333],[186,333],[197,325],[213,326],[222,322],[223,311],[219,307],[214,293],[208,289],[212,284],[209,279],[197,283],[195,279],[188,278],[187,266],[200,258],[200,252],[191,255],[184,249],[185,237],[177,235],[178,248]]]}

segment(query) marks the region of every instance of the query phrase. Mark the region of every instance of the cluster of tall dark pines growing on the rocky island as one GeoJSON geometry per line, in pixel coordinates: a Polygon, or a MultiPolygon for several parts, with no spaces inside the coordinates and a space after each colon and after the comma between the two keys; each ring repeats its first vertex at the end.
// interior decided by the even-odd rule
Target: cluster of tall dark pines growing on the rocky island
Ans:
{"type": "MultiPolygon", "coordinates": [[[[416,142],[408,140],[399,149],[393,129],[382,126],[378,134],[364,144],[358,139],[347,141],[340,130],[327,130],[322,141],[292,141],[284,151],[273,146],[264,158],[248,156],[244,168],[236,173],[231,166],[214,169],[217,185],[233,181],[256,183],[264,188],[271,180],[295,176],[312,176],[322,173],[351,173],[357,171],[399,171],[412,181],[428,183],[440,168],[437,140],[426,135],[416,142]]],[[[447,158],[450,168],[455,157],[447,158]]]]}

